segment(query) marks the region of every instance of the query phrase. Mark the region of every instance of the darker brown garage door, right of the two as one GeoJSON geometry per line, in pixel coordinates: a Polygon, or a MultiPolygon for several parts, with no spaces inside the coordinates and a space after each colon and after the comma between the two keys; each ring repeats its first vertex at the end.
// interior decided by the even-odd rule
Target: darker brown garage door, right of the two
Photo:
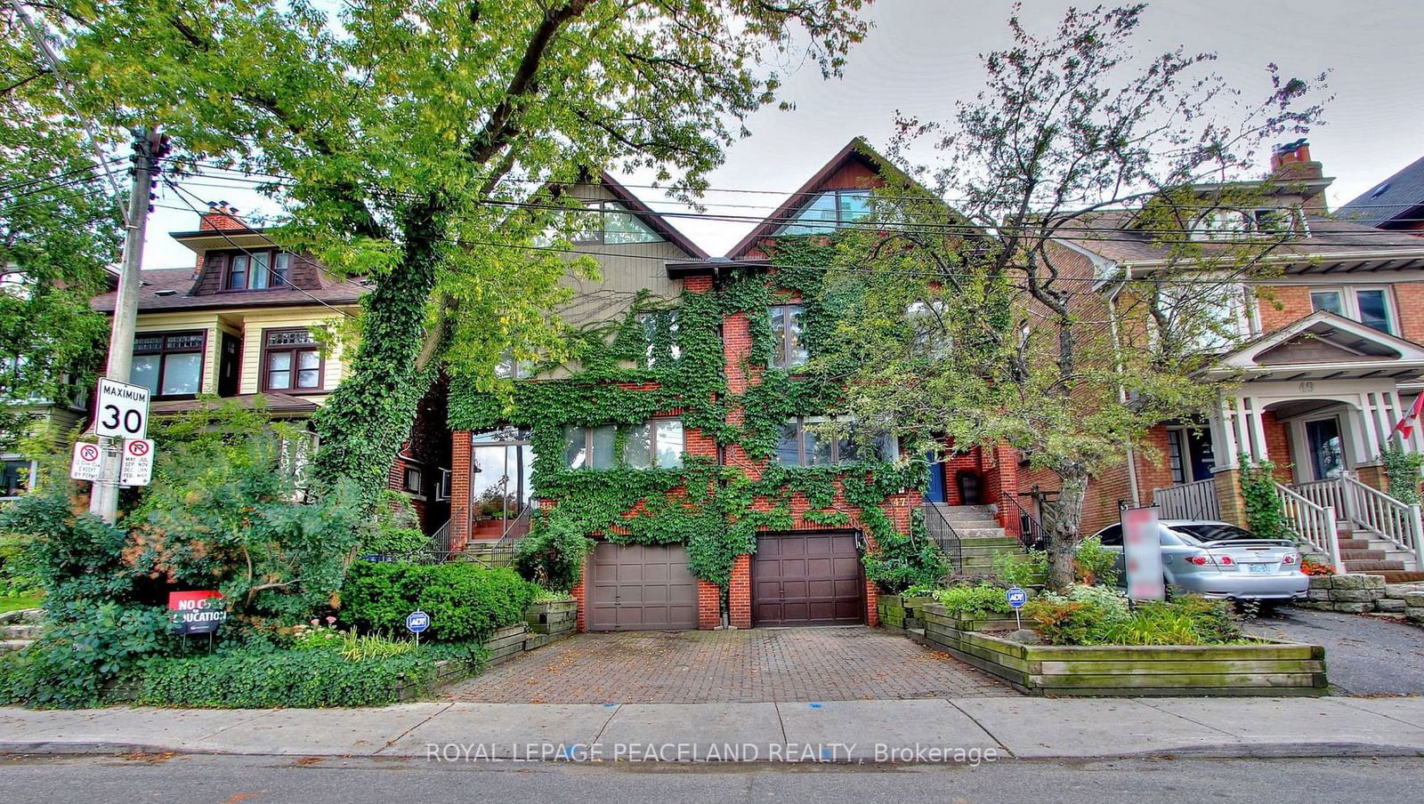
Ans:
{"type": "Polygon", "coordinates": [[[866,583],[854,534],[758,536],[752,625],[859,625],[866,583]]]}

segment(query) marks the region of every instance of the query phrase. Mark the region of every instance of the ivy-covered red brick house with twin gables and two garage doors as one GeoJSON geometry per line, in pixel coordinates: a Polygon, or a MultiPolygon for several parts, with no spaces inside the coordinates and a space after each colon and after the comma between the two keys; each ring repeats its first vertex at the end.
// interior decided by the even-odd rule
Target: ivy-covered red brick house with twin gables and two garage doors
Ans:
{"type": "MultiPolygon", "coordinates": [[[[577,286],[578,296],[565,316],[584,324],[614,322],[631,309],[629,305],[638,303],[635,295],[669,303],[681,297],[676,307],[681,317],[675,320],[684,354],[678,360],[692,357],[689,337],[713,337],[718,351],[705,370],[716,374],[719,383],[709,394],[715,398],[668,401],[669,407],[651,413],[648,423],[615,418],[612,408],[628,406],[632,393],[664,394],[669,391],[668,383],[688,387],[688,377],[674,380],[669,374],[666,381],[656,381],[648,374],[649,366],[644,364],[639,373],[637,360],[625,360],[627,367],[598,374],[605,379],[602,384],[578,386],[584,376],[578,367],[541,371],[513,384],[515,400],[521,398],[520,393],[533,398],[541,387],[554,398],[547,388],[560,381],[575,383],[565,386],[575,394],[608,400],[607,418],[600,420],[597,410],[568,414],[558,420],[562,441],[543,437],[547,438],[544,444],[564,451],[557,470],[558,484],[568,484],[575,470],[590,467],[608,468],[609,484],[631,482],[628,475],[618,474],[629,467],[651,465],[651,470],[635,471],[661,467],[658,461],[649,464],[646,457],[648,433],[654,437],[654,453],[659,453],[659,423],[666,424],[668,435],[681,451],[676,465],[688,470],[684,484],[666,490],[666,497],[659,494],[656,499],[637,501],[621,514],[615,512],[612,519],[584,531],[598,544],[584,566],[582,582],[572,591],[580,602],[581,629],[708,629],[722,625],[723,618],[735,628],[874,625],[877,591],[866,579],[862,556],[874,546],[877,529],[881,534],[911,531],[911,522],[923,509],[921,492],[917,482],[899,482],[900,475],[876,475],[862,468],[904,467],[904,461],[887,461],[899,457],[889,440],[880,438],[873,450],[866,450],[849,437],[819,437],[812,425],[824,410],[795,410],[787,416],[768,413],[792,410],[787,398],[799,396],[792,390],[799,381],[796,367],[807,359],[806,333],[815,326],[807,320],[813,313],[803,305],[802,292],[779,282],[780,269],[768,253],[792,238],[816,240],[867,212],[870,188],[881,184],[880,171],[886,168],[863,141],[853,141],[725,258],[708,258],[607,175],[600,182],[575,188],[575,196],[588,203],[617,203],[612,215],[621,221],[619,229],[637,221],[649,242],[575,240],[575,252],[595,256],[602,276],[597,283],[577,286]],[[635,248],[639,253],[627,253],[635,248]],[[622,306],[607,303],[609,286],[624,292],[622,306]],[[598,314],[582,314],[595,299],[602,300],[598,314]],[[696,319],[689,307],[713,312],[711,317],[696,319]],[[693,332],[693,327],[699,329],[693,332]],[[775,383],[768,384],[769,380],[775,383]],[[719,418],[698,418],[708,411],[719,418]],[[701,421],[702,427],[693,421],[701,421]],[[627,444],[635,441],[637,460],[627,453],[627,444]],[[691,467],[696,465],[708,467],[712,474],[695,475],[691,467]],[[746,551],[731,559],[725,598],[718,583],[692,575],[689,545],[682,544],[682,534],[658,534],[658,538],[672,539],[661,544],[648,539],[632,544],[627,538],[646,521],[642,515],[648,509],[668,498],[685,498],[688,508],[705,505],[692,501],[705,491],[693,488],[695,477],[711,477],[718,497],[726,495],[728,487],[748,494],[745,509],[731,512],[728,529],[748,522],[756,525],[755,532],[748,534],[746,551]]],[[[649,356],[654,349],[649,334],[649,356]]],[[[487,427],[484,433],[461,430],[470,420],[461,413],[459,397],[461,393],[453,388],[453,549],[490,551],[513,542],[527,529],[521,519],[531,507],[537,507],[540,515],[554,517],[591,505],[577,494],[545,497],[530,488],[541,482],[540,475],[528,471],[541,461],[535,454],[540,451],[534,450],[541,435],[537,424],[530,431],[530,417],[514,413],[513,420],[498,420],[500,427],[487,427]]],[[[560,398],[567,400],[567,407],[584,401],[560,398]]],[[[1015,488],[1017,464],[1000,457],[975,451],[948,465],[937,464],[933,488],[944,501],[957,502],[958,491],[951,488],[953,471],[960,468],[978,472],[975,477],[987,480],[994,494],[1001,484],[1015,488]]],[[[696,556],[691,559],[695,562],[696,556]]]]}

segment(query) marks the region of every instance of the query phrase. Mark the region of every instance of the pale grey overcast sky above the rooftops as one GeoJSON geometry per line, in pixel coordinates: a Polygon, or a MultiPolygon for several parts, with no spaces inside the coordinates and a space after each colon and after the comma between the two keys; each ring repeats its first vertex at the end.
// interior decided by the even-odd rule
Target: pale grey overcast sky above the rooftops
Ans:
{"type": "MultiPolygon", "coordinates": [[[[1082,3],[1088,4],[1088,3],[1082,3]]],[[[1049,34],[1068,3],[1028,0],[1025,26],[1049,34]]],[[[926,120],[947,120],[954,101],[983,85],[980,53],[1008,44],[1004,21],[1011,3],[1001,0],[879,0],[869,9],[874,28],[850,54],[842,80],[823,81],[815,67],[790,73],[785,95],[795,111],[763,110],[752,117],[752,137],[733,145],[712,174],[713,188],[790,192],[852,137],[881,147],[896,110],[926,120]]],[[[1247,97],[1265,97],[1265,67],[1274,61],[1284,75],[1313,77],[1331,70],[1336,100],[1326,125],[1310,134],[1312,155],[1336,182],[1331,208],[1370,189],[1424,157],[1424,1],[1420,0],[1158,0],[1143,14],[1136,47],[1155,54],[1175,46],[1215,51],[1220,73],[1247,97]]],[[[783,70],[785,73],[785,70],[783,70]]],[[[1265,171],[1265,165],[1262,165],[1265,171]]],[[[201,182],[202,179],[197,179],[201,182]]],[[[638,176],[631,184],[645,184],[638,176]]],[[[226,199],[244,212],[276,212],[259,196],[194,185],[208,199],[226,199]]],[[[664,203],[656,191],[634,188],[654,209],[686,212],[664,203]]],[[[766,215],[782,196],[711,192],[711,213],[766,215]]],[[[192,265],[192,253],[167,232],[197,228],[197,215],[164,192],[150,222],[144,265],[192,265]]],[[[674,223],[709,253],[725,253],[752,223],[678,219],[674,223]]]]}

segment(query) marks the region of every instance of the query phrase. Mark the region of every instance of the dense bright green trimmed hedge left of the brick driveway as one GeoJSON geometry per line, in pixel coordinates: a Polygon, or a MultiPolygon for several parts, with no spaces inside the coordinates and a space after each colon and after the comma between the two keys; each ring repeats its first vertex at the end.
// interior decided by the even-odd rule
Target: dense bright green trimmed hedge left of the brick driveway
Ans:
{"type": "Polygon", "coordinates": [[[538,592],[506,566],[357,561],[342,586],[337,615],[359,630],[404,633],[406,615],[420,609],[430,615],[423,640],[480,642],[498,628],[524,622],[538,592]]]}

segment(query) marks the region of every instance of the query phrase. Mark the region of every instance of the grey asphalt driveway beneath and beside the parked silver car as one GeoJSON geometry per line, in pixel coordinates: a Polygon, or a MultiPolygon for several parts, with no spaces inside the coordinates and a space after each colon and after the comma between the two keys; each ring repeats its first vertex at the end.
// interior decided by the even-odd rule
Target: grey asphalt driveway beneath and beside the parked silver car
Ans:
{"type": "Polygon", "coordinates": [[[1246,630],[1324,645],[1326,673],[1337,694],[1424,694],[1424,628],[1283,606],[1250,620],[1246,630]]]}

